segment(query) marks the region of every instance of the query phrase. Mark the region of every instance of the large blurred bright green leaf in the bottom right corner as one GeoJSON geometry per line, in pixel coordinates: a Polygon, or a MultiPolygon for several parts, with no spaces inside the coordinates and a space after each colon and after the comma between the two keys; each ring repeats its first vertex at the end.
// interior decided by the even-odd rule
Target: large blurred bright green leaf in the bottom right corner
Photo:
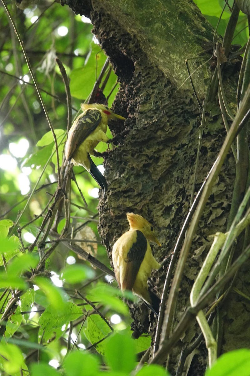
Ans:
{"type": "Polygon", "coordinates": [[[250,350],[230,351],[220,356],[205,376],[249,376],[250,350]]]}

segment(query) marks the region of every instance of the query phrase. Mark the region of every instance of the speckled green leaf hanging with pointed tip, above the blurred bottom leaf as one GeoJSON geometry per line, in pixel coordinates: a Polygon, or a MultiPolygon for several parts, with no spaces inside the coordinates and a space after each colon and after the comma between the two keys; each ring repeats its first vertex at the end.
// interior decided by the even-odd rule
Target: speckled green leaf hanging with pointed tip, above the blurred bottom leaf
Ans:
{"type": "MultiPolygon", "coordinates": [[[[110,327],[99,315],[91,315],[87,321],[87,335],[91,344],[97,343],[111,333],[110,327]]],[[[96,350],[104,355],[106,338],[95,346],[96,350]]]]}

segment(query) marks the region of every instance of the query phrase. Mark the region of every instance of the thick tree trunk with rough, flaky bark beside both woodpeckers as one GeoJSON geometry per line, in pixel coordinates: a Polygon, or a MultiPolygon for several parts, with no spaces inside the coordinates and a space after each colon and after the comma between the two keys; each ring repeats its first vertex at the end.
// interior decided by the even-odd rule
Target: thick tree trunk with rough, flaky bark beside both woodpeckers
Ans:
{"type": "MultiPolygon", "coordinates": [[[[100,196],[100,236],[110,257],[115,240],[128,228],[126,212],[143,215],[155,226],[162,248],[154,246],[159,261],[171,254],[181,226],[189,211],[198,149],[201,112],[186,80],[185,59],[204,52],[203,45],[213,41],[213,30],[190,0],[181,2],[156,0],[64,0],[76,14],[91,18],[94,34],[109,56],[120,82],[115,99],[118,114],[127,117],[110,128],[120,146],[105,159],[108,193],[100,196]],[[124,132],[126,130],[126,132],[124,132]]],[[[211,57],[211,53],[205,55],[211,57]]],[[[196,67],[199,65],[196,65],[196,67]]],[[[193,75],[198,96],[204,99],[208,80],[213,72],[209,65],[193,75]]],[[[235,96],[237,74],[225,79],[229,102],[235,96]]],[[[218,103],[211,103],[202,136],[196,192],[216,159],[225,138],[218,103]]],[[[235,159],[228,155],[214,186],[193,240],[181,291],[175,323],[189,305],[189,294],[207,250],[209,235],[224,232],[227,226],[235,159]]],[[[159,295],[168,266],[153,274],[150,284],[159,295]]],[[[246,276],[240,276],[248,284],[246,276]]],[[[238,286],[243,282],[238,280],[238,286]]],[[[219,352],[246,346],[249,321],[244,302],[232,292],[220,307],[223,320],[219,352]],[[244,331],[241,330],[244,324],[244,331]]],[[[155,330],[153,314],[148,319],[144,305],[132,312],[133,329],[155,330]]],[[[180,351],[200,333],[193,320],[171,353],[169,371],[175,374],[180,351]]],[[[186,361],[183,374],[201,375],[207,364],[204,343],[186,361]],[[186,373],[185,373],[186,372],[186,373]],[[188,373],[187,373],[188,372],[188,373]]]]}

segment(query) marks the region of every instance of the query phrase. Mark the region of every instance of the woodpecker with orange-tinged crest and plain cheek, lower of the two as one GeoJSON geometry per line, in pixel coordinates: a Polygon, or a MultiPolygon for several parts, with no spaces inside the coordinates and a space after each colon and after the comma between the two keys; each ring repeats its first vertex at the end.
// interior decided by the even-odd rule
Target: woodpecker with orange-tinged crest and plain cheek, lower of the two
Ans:
{"type": "Polygon", "coordinates": [[[154,235],[154,227],[141,215],[127,213],[130,230],[115,242],[112,260],[117,283],[121,289],[132,290],[158,315],[160,299],[148,290],[148,278],[160,264],[152,255],[148,241],[161,244],[154,235]]]}

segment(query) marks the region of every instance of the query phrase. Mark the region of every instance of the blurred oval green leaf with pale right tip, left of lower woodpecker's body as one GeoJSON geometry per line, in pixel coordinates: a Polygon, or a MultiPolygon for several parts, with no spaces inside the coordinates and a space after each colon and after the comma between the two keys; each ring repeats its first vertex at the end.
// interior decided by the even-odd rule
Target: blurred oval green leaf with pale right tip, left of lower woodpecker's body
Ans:
{"type": "Polygon", "coordinates": [[[85,265],[73,264],[66,265],[62,279],[70,284],[83,282],[85,279],[93,278],[95,276],[94,271],[85,265]]]}

